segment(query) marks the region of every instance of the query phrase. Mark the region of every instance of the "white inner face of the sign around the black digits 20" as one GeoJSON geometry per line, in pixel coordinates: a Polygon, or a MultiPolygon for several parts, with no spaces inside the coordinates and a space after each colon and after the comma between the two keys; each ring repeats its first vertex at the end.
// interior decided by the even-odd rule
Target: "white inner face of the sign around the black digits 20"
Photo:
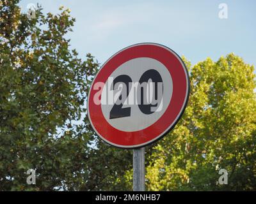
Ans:
{"type": "MultiPolygon", "coordinates": [[[[157,76],[158,77],[158,76],[157,76]]],[[[132,83],[131,82],[131,83],[132,83]]],[[[161,82],[160,82],[161,83],[161,82]]],[[[154,84],[156,85],[156,84],[154,84]]],[[[116,85],[117,86],[117,85],[116,85]]],[[[120,92],[124,91],[126,92],[125,83],[120,83],[120,92]]],[[[124,94],[125,95],[125,94],[124,94]]],[[[140,131],[141,129],[148,128],[151,126],[154,122],[156,122],[165,112],[168,104],[170,103],[170,99],[172,98],[172,77],[166,69],[166,67],[159,61],[156,61],[156,59],[148,58],[148,57],[140,57],[136,59],[131,59],[130,61],[125,62],[121,66],[119,66],[113,73],[109,76],[108,81],[104,85],[102,96],[101,96],[101,109],[102,113],[105,117],[105,119],[113,126],[113,128],[119,129],[120,131],[140,131]],[[163,92],[160,92],[161,96],[157,98],[157,108],[152,107],[152,113],[145,114],[141,112],[138,100],[138,89],[141,89],[141,86],[137,83],[131,84],[131,89],[129,91],[129,94],[127,98],[125,98],[123,108],[130,108],[131,113],[129,114],[129,117],[118,117],[114,119],[110,119],[109,113],[111,112],[111,109],[113,109],[114,104],[106,104],[104,101],[108,98],[108,96],[118,95],[119,89],[110,89],[111,83],[113,84],[112,78],[115,79],[121,75],[127,75],[131,78],[132,82],[140,82],[140,78],[143,76],[143,74],[147,74],[147,71],[152,70],[152,74],[150,75],[151,78],[148,78],[147,83],[147,90],[145,91],[145,95],[147,100],[152,101],[152,98],[156,96],[156,89],[153,87],[152,78],[154,78],[157,74],[161,78],[161,81],[163,82],[164,87],[164,94],[163,92]],[[151,79],[151,85],[150,85],[150,79],[151,79]],[[110,81],[110,83],[109,83],[110,81]],[[112,81],[112,82],[111,82],[112,81]],[[113,92],[113,93],[110,93],[113,92]]],[[[142,101],[140,101],[142,102],[142,101]]],[[[144,101],[143,101],[144,102],[144,101]]],[[[140,103],[141,104],[141,103],[140,103]]],[[[122,110],[120,109],[120,112],[122,110]]]]}

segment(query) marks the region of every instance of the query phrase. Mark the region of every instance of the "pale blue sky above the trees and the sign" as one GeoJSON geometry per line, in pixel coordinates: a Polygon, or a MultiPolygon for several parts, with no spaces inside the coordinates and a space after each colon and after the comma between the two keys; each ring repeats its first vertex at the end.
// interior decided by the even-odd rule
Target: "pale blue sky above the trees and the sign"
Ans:
{"type": "Polygon", "coordinates": [[[44,12],[58,13],[63,5],[76,18],[68,34],[71,48],[86,59],[91,53],[103,64],[111,55],[135,43],[153,42],[172,48],[192,64],[230,52],[256,65],[256,1],[254,0],[22,0],[39,3],[44,12]],[[227,18],[219,18],[221,3],[227,18]]]}

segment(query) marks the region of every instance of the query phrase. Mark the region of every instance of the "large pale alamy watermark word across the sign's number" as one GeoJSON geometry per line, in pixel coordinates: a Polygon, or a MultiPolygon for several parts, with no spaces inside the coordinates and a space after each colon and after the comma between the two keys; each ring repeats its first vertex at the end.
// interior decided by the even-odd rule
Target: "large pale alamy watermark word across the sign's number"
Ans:
{"type": "MultiPolygon", "coordinates": [[[[117,78],[117,77],[116,77],[117,78]]],[[[163,82],[118,81],[109,77],[106,84],[97,82],[92,87],[95,105],[152,105],[152,112],[163,108],[163,82]],[[114,85],[115,84],[115,85],[114,85]]]]}

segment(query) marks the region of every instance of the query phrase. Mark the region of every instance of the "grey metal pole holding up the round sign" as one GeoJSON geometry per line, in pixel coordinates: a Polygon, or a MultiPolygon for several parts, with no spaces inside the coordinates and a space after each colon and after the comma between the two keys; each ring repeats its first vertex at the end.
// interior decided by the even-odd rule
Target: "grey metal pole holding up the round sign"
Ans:
{"type": "Polygon", "coordinates": [[[133,150],[133,191],[145,191],[145,147],[133,150]]]}

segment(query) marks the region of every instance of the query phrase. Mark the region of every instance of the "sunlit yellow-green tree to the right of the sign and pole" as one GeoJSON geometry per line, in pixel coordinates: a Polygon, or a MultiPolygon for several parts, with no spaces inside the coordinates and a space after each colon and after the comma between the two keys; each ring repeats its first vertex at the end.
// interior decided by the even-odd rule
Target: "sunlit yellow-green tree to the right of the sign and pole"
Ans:
{"type": "Polygon", "coordinates": [[[154,148],[149,190],[256,189],[256,98],[253,66],[228,54],[191,66],[191,94],[177,127],[154,148]],[[228,184],[216,184],[220,169],[228,184]]]}

